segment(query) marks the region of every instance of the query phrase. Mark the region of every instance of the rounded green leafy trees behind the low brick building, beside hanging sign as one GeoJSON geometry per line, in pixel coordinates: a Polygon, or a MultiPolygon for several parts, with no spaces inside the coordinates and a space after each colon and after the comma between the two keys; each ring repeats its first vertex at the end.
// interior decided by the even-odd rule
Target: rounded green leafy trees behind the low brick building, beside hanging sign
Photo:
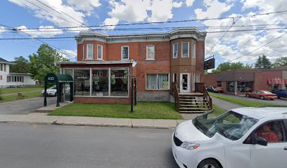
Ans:
{"type": "Polygon", "coordinates": [[[236,70],[236,69],[252,69],[249,64],[243,64],[242,62],[224,62],[217,66],[217,69],[213,69],[212,73],[219,73],[222,71],[236,70]]]}

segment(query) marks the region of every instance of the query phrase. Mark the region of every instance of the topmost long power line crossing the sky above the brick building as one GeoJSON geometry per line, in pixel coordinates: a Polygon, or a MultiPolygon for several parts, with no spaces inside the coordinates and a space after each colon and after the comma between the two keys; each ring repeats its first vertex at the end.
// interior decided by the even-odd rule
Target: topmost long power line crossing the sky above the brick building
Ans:
{"type": "MultiPolygon", "coordinates": [[[[25,0],[27,1],[27,0],[25,0]]],[[[129,26],[129,25],[151,25],[151,24],[162,24],[162,23],[176,23],[176,22],[195,22],[195,21],[206,21],[206,20],[224,20],[224,19],[233,19],[234,18],[243,18],[243,17],[255,17],[257,15],[270,15],[274,13],[285,13],[287,10],[275,11],[272,13],[258,13],[254,15],[243,15],[238,17],[224,17],[224,18],[205,18],[205,19],[193,19],[193,20],[174,20],[174,21],[165,21],[165,22],[136,22],[136,23],[127,23],[127,24],[118,24],[118,25],[93,25],[93,26],[75,26],[75,27],[51,27],[43,29],[74,29],[74,28],[89,28],[89,27],[115,27],[115,26],[129,26]]],[[[42,29],[42,28],[27,28],[27,29],[42,29]]]]}

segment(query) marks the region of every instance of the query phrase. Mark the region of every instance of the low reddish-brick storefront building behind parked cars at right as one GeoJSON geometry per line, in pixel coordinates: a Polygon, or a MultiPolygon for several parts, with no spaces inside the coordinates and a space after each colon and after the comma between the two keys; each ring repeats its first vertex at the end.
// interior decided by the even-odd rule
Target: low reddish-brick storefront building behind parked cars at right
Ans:
{"type": "Polygon", "coordinates": [[[274,69],[246,69],[209,73],[203,76],[206,86],[223,87],[229,94],[244,94],[252,90],[285,89],[287,86],[287,66],[274,69]]]}

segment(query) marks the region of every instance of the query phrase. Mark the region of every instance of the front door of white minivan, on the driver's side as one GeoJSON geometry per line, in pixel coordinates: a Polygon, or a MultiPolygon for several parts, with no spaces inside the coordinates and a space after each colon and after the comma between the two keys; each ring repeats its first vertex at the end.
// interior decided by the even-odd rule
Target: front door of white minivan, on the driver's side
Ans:
{"type": "MultiPolygon", "coordinates": [[[[273,120],[271,122],[263,123],[263,125],[268,125],[269,123],[276,123],[277,130],[273,129],[272,132],[278,131],[276,134],[280,141],[272,142],[269,141],[267,146],[261,146],[258,144],[250,144],[250,167],[260,167],[260,168],[286,168],[286,158],[287,158],[287,141],[286,141],[286,121],[284,120],[273,120]]],[[[260,129],[258,128],[258,130],[260,129]]],[[[259,137],[259,135],[256,135],[259,137]]]]}

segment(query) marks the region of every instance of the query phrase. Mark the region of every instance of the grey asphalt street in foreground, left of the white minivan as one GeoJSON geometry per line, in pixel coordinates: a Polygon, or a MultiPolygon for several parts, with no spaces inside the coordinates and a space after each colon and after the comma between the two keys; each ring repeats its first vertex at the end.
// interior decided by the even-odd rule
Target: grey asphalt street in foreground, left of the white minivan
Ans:
{"type": "Polygon", "coordinates": [[[172,130],[0,124],[1,168],[177,168],[172,130]]]}

